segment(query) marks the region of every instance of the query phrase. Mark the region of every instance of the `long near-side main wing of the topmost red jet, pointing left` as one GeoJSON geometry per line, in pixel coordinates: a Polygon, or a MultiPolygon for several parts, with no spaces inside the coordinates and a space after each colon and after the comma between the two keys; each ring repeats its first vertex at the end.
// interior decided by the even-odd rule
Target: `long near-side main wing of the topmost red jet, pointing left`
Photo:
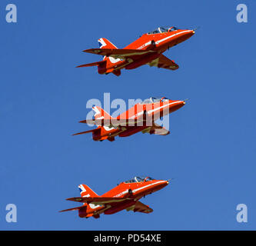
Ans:
{"type": "Polygon", "coordinates": [[[111,56],[113,58],[126,58],[132,55],[145,55],[150,52],[154,52],[151,50],[145,51],[141,49],[128,49],[128,48],[89,48],[84,52],[88,52],[96,55],[106,55],[111,56]]]}

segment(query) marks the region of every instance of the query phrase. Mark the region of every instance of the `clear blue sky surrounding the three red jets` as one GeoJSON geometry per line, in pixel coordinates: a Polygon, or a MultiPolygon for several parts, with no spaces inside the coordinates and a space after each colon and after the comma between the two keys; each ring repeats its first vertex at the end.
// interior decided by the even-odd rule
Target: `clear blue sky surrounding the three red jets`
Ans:
{"type": "Polygon", "coordinates": [[[0,3],[0,228],[5,230],[256,229],[255,1],[12,1],[18,23],[0,3]],[[248,23],[236,6],[248,5],[248,23]],[[75,65],[100,56],[81,52],[108,38],[118,48],[158,26],[193,28],[165,55],[178,71],[141,68],[98,75],[75,65]],[[171,135],[91,140],[78,121],[90,98],[190,98],[170,115],[171,135]],[[121,211],[99,220],[75,211],[78,184],[98,194],[135,175],[175,178],[142,202],[154,212],[121,211]],[[5,221],[16,204],[18,222],[5,221]],[[237,204],[248,223],[236,221],[237,204]]]}

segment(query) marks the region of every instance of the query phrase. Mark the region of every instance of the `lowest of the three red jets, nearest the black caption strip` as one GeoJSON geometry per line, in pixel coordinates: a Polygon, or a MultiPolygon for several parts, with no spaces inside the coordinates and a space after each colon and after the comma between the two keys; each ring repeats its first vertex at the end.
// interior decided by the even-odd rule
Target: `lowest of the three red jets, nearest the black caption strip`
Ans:
{"type": "Polygon", "coordinates": [[[138,200],[147,194],[164,188],[167,184],[169,184],[169,181],[155,180],[150,177],[135,177],[118,184],[117,187],[101,196],[92,191],[87,185],[80,184],[78,188],[81,198],[68,198],[66,200],[82,202],[83,205],[77,208],[68,208],[61,212],[78,210],[78,215],[81,218],[91,216],[99,218],[101,213],[115,214],[124,209],[148,214],[153,209],[138,200]]]}

